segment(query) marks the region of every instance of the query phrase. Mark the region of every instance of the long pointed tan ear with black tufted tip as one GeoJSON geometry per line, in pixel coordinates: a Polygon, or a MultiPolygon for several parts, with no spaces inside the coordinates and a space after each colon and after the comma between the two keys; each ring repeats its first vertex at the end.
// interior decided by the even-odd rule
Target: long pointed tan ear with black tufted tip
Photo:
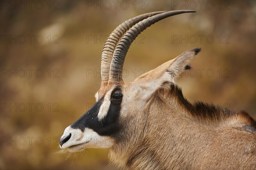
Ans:
{"type": "MultiPolygon", "coordinates": [[[[155,91],[163,83],[170,82],[175,84],[175,79],[186,69],[190,69],[189,62],[201,51],[201,48],[195,48],[180,54],[180,56],[163,63],[157,68],[141,75],[134,82],[141,82],[143,86],[150,86],[155,91]]],[[[144,87],[147,88],[147,87],[144,87]]]]}

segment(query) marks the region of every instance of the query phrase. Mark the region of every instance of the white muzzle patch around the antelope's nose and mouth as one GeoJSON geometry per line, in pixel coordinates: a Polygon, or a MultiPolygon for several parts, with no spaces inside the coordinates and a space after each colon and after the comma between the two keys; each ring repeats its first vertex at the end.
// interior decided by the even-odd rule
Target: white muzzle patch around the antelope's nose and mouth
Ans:
{"type": "Polygon", "coordinates": [[[113,144],[113,139],[100,136],[90,128],[85,128],[82,132],[80,129],[69,126],[65,129],[63,136],[70,133],[70,139],[61,146],[61,149],[67,148],[70,152],[79,152],[85,148],[108,148],[113,144]]]}

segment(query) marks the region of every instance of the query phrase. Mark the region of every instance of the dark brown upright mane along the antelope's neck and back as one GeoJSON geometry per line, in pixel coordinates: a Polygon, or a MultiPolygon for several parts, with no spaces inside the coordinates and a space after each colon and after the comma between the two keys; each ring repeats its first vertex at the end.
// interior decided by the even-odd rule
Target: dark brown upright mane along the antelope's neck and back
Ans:
{"type": "Polygon", "coordinates": [[[229,108],[215,106],[212,103],[190,103],[184,98],[181,89],[177,85],[171,84],[168,86],[169,88],[166,88],[166,86],[160,88],[157,94],[160,94],[161,98],[170,105],[172,105],[172,102],[176,102],[178,109],[185,110],[187,116],[198,123],[218,126],[224,122],[235,121],[244,125],[253,126],[256,129],[256,121],[245,111],[233,111],[229,108]]]}

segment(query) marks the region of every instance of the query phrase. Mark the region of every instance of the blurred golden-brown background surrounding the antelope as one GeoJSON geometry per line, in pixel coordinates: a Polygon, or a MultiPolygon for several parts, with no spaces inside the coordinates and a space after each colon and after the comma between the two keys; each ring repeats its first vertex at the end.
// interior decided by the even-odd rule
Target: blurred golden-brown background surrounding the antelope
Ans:
{"type": "Polygon", "coordinates": [[[133,81],[191,48],[177,80],[190,102],[256,119],[256,4],[232,1],[0,1],[0,169],[114,169],[108,150],[58,155],[64,129],[95,102],[102,47],[116,26],[151,11],[192,9],[143,31],[125,59],[133,81]]]}

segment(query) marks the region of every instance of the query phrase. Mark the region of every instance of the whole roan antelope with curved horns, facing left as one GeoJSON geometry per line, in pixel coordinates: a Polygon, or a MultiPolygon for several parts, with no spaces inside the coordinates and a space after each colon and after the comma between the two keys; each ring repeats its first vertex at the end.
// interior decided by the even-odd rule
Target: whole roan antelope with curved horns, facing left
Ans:
{"type": "Polygon", "coordinates": [[[191,104],[175,83],[201,48],[184,52],[134,82],[122,80],[125,55],[135,38],[157,21],[187,12],[194,11],[143,14],[111,33],[102,51],[96,103],[65,129],[62,150],[108,148],[111,162],[123,169],[256,169],[256,121],[245,111],[191,104]]]}

